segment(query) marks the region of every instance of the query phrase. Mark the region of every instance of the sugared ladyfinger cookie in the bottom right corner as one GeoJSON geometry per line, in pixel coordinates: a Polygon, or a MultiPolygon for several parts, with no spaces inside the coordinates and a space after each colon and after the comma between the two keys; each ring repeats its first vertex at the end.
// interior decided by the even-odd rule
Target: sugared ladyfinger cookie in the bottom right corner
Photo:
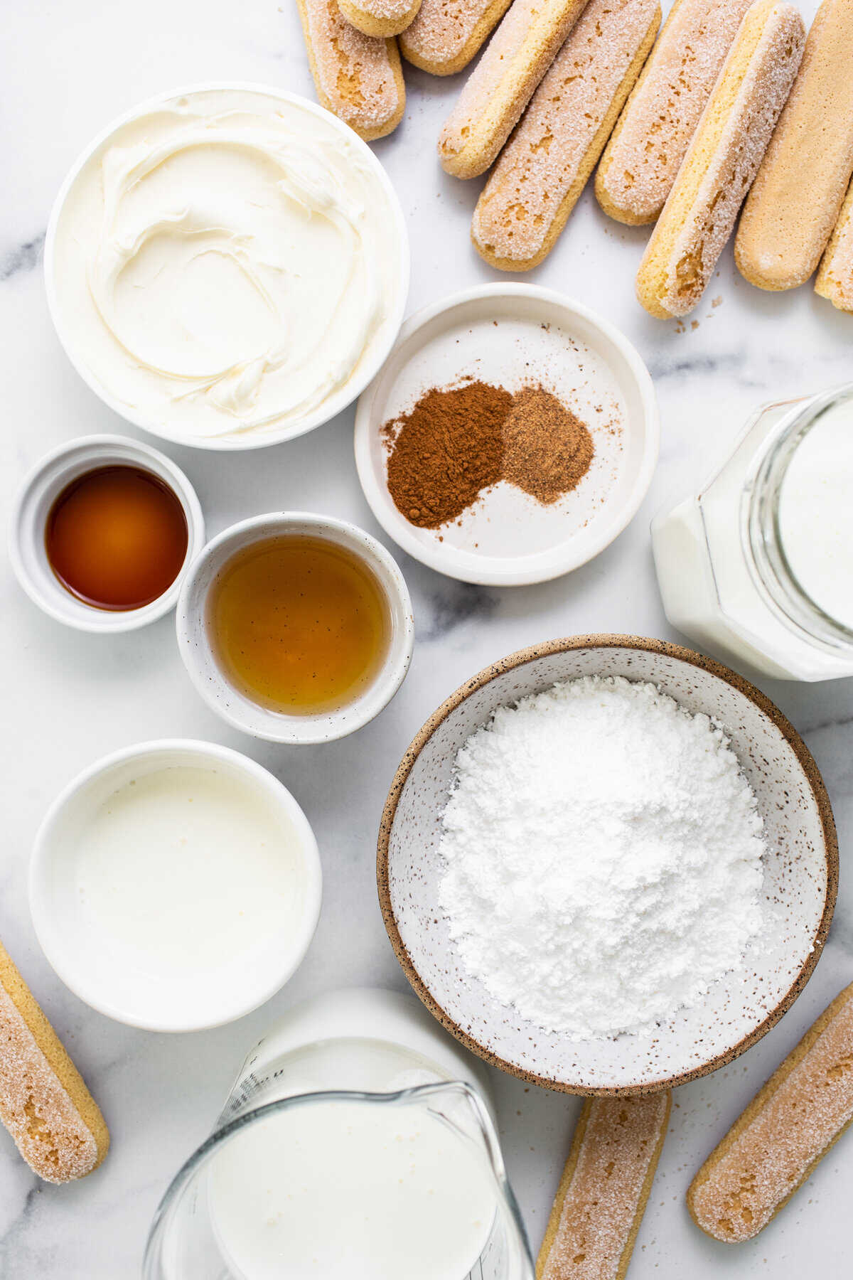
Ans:
{"type": "Polygon", "coordinates": [[[691,1183],[687,1206],[716,1240],[749,1240],[853,1121],[853,984],[817,1019],[691,1183]]]}

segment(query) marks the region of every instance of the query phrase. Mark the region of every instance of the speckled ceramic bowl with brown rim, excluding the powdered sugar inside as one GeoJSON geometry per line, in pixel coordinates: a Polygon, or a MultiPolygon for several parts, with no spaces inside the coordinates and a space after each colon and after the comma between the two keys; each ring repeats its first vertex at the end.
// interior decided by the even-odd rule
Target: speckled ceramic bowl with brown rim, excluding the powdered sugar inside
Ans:
{"type": "Polygon", "coordinates": [[[638,636],[572,636],[510,654],[426,722],[394,778],[379,838],[385,925],[416,992],[463,1044],[522,1079],[565,1093],[648,1093],[730,1062],[806,986],[829,932],[838,841],[826,788],[781,712],[726,667],[638,636]],[[458,749],[492,712],[558,680],[625,676],[659,685],[725,727],[757,796],[771,850],[763,925],[740,966],[646,1036],[578,1041],[499,1005],[459,964],[437,908],[440,822],[458,749]]]}

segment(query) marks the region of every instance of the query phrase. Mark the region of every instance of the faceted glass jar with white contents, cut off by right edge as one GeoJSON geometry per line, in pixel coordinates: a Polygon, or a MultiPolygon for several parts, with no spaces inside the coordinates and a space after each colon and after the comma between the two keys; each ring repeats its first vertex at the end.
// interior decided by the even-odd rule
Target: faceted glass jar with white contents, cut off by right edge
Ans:
{"type": "Polygon", "coordinates": [[[853,383],[760,408],[652,548],[666,617],[702,648],[781,680],[853,676],[853,383]]]}

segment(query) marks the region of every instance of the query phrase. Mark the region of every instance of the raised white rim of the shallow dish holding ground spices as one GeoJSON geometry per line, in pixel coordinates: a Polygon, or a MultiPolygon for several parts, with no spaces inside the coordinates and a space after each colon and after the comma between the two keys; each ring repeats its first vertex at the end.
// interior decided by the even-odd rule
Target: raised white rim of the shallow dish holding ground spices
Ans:
{"type": "MultiPolygon", "coordinates": [[[[417,355],[413,352],[412,355],[417,355]]],[[[409,360],[412,356],[409,357],[409,360]]],[[[408,362],[408,361],[407,361],[408,362]]],[[[628,428],[625,428],[628,430],[628,428]]],[[[414,315],[409,316],[400,328],[396,340],[387,353],[376,376],[358,397],[356,406],[356,426],[353,433],[353,447],[356,453],[356,470],[362,493],[371,508],[373,517],[398,547],[428,568],[446,577],[457,579],[462,582],[474,582],[483,586],[528,586],[533,582],[549,582],[555,577],[563,577],[581,568],[590,561],[606,550],[613,541],[625,531],[637,512],[639,511],[648,489],[651,486],[657,457],[660,453],[660,412],[655,384],[648,367],[639,355],[637,347],[613,321],[604,315],[587,307],[583,302],[561,293],[559,289],[546,288],[541,284],[527,284],[519,280],[491,280],[486,284],[474,284],[467,289],[449,293],[437,302],[431,302],[414,315]],[[625,361],[630,378],[637,388],[642,404],[642,425],[637,428],[642,433],[643,448],[637,476],[628,492],[624,502],[614,507],[610,518],[602,521],[597,538],[590,548],[578,556],[577,548],[569,539],[563,545],[561,554],[559,544],[550,552],[537,552],[529,556],[515,558],[509,556],[477,557],[482,563],[474,563],[473,553],[463,553],[463,559],[457,561],[444,544],[422,543],[417,538],[413,526],[398,512],[387,492],[387,486],[377,477],[371,461],[371,440],[379,426],[376,419],[377,393],[385,366],[394,358],[398,349],[411,342],[422,329],[432,323],[437,316],[449,315],[458,307],[469,302],[482,302],[489,298],[519,298],[531,300],[547,307],[559,307],[568,317],[574,317],[596,329],[625,361]],[[471,564],[468,564],[471,559],[471,564]],[[531,563],[535,562],[535,563],[531,563]]]]}

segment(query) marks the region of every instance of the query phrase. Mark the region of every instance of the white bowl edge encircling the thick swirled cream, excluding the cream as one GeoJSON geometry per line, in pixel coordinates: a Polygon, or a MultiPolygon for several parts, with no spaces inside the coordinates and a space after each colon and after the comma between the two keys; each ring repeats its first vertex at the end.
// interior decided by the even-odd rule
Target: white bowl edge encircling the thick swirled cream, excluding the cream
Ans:
{"type": "Polygon", "coordinates": [[[47,223],[47,233],[45,237],[45,287],[47,291],[47,307],[50,311],[51,320],[56,329],[59,340],[65,351],[65,355],[70,360],[72,365],[81,375],[83,381],[90,387],[91,390],[98,396],[104,403],[111,408],[115,413],[119,413],[128,422],[133,422],[136,426],[143,428],[143,430],[150,431],[152,435],[159,435],[164,440],[171,440],[175,444],[191,445],[201,449],[216,449],[221,452],[237,451],[237,449],[257,449],[263,448],[267,444],[279,444],[283,440],[292,440],[298,435],[304,435],[306,431],[313,430],[322,422],[327,422],[341,410],[347,408],[348,404],[356,399],[357,396],[367,387],[370,380],[375,376],[379,369],[381,369],[390,348],[394,344],[396,334],[399,332],[400,324],[403,321],[403,315],[405,311],[405,300],[409,288],[409,244],[408,233],[405,229],[405,219],[403,216],[403,210],[398,200],[396,192],[391,184],[390,178],[385,173],[385,169],[376,159],[371,148],[363,142],[357,133],[354,133],[349,125],[339,120],[331,111],[326,111],[325,108],[318,106],[316,102],[309,101],[306,97],[301,97],[298,93],[288,93],[281,88],[270,87],[267,84],[252,84],[243,81],[211,81],[200,84],[182,86],[179,88],[169,90],[165,93],[157,93],[156,97],[147,99],[145,102],[139,102],[137,106],[125,111],[118,119],[113,120],[106,128],[95,137],[90,145],[81,152],[70,170],[68,172],[56,200],[51,210],[51,215],[47,223]],[[353,374],[353,376],[341,387],[334,396],[325,399],[317,408],[306,415],[297,422],[292,422],[283,426],[278,431],[269,433],[235,433],[234,435],[200,439],[183,435],[174,431],[170,424],[166,421],[152,421],[143,413],[136,412],[132,406],[120,401],[113,394],[110,388],[105,385],[97,374],[90,367],[88,362],[84,360],[78,349],[74,334],[74,321],[73,316],[67,316],[63,312],[61,301],[56,293],[55,282],[55,242],[56,242],[56,227],[63,212],[63,206],[68,197],[68,193],[74,183],[74,179],[79,174],[81,169],[84,166],[87,160],[93,152],[101,147],[113,133],[120,129],[123,125],[128,124],[130,120],[139,115],[145,115],[152,109],[161,106],[164,102],[171,99],[188,97],[193,93],[206,93],[216,90],[226,90],[234,92],[244,93],[262,93],[265,97],[275,97],[281,102],[294,102],[312,115],[321,116],[330,128],[335,129],[347,140],[347,142],[354,147],[361,156],[362,163],[371,170],[376,177],[381,187],[384,188],[389,205],[391,209],[391,215],[396,224],[396,266],[394,270],[394,278],[398,282],[396,297],[393,301],[389,317],[386,320],[386,338],[381,342],[376,342],[373,349],[370,351],[366,358],[362,360],[359,367],[353,374]]]}

